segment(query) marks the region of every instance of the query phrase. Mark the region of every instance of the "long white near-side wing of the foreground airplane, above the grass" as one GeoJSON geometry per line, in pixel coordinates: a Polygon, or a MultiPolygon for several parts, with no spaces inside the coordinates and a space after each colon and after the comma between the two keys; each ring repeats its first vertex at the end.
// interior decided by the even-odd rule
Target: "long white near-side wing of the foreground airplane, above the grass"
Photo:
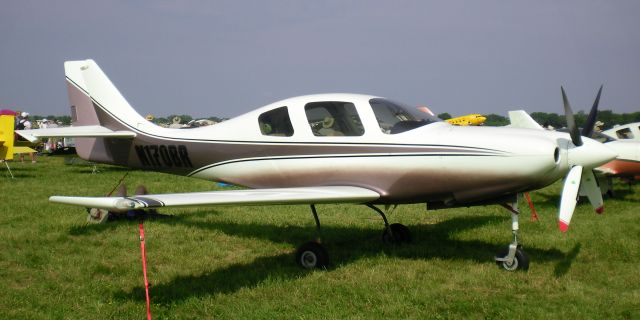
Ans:
{"type": "Polygon", "coordinates": [[[379,193],[366,188],[323,186],[148,194],[132,197],[52,196],[49,201],[88,208],[126,211],[143,208],[190,206],[366,203],[378,198],[380,198],[379,193]]]}

